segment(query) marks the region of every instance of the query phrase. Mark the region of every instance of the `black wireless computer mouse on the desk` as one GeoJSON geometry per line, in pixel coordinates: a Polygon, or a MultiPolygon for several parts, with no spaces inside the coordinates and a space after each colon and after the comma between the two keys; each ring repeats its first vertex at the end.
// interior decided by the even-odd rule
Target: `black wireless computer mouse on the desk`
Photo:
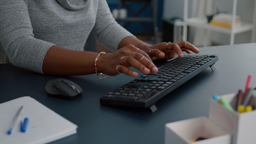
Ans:
{"type": "Polygon", "coordinates": [[[67,79],[52,79],[44,88],[50,96],[63,99],[76,98],[83,92],[80,86],[67,79]]]}

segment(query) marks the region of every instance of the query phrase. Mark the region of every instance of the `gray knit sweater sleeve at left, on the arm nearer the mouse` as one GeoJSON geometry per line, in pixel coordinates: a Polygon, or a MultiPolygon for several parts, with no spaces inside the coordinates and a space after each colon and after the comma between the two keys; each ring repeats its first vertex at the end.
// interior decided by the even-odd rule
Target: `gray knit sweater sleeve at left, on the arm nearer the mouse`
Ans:
{"type": "Polygon", "coordinates": [[[13,65],[40,73],[44,56],[54,45],[34,38],[26,0],[0,1],[0,41],[13,65]]]}

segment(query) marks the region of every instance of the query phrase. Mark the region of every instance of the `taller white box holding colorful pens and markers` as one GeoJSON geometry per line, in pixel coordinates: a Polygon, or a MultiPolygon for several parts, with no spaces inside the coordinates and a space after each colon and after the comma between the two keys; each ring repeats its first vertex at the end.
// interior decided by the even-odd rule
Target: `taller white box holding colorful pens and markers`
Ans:
{"type": "MultiPolygon", "coordinates": [[[[235,95],[223,95],[233,108],[236,102],[235,95]]],[[[251,97],[248,105],[256,106],[255,96],[251,97]]],[[[239,114],[211,99],[209,119],[233,135],[232,144],[256,144],[256,110],[239,114]]]]}

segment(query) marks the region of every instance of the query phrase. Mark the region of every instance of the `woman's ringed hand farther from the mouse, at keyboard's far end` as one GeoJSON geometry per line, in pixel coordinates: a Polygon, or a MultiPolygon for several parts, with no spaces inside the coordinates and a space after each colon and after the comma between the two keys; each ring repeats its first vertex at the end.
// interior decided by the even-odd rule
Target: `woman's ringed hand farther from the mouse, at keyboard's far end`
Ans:
{"type": "Polygon", "coordinates": [[[151,60],[167,60],[174,58],[176,54],[178,54],[178,56],[182,58],[182,51],[186,51],[186,53],[189,54],[191,53],[191,51],[193,51],[194,53],[200,52],[199,49],[193,46],[193,44],[184,40],[176,43],[162,42],[144,48],[143,51],[145,51],[150,56],[151,60]]]}

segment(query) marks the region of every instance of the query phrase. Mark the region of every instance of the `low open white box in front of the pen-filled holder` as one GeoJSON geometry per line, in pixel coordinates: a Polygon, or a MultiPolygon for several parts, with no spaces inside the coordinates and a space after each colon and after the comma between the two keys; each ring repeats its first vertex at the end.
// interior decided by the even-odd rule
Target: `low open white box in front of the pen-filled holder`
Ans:
{"type": "Polygon", "coordinates": [[[165,144],[230,144],[231,135],[206,117],[165,124],[165,144]],[[191,142],[191,139],[207,139],[191,142]]]}

